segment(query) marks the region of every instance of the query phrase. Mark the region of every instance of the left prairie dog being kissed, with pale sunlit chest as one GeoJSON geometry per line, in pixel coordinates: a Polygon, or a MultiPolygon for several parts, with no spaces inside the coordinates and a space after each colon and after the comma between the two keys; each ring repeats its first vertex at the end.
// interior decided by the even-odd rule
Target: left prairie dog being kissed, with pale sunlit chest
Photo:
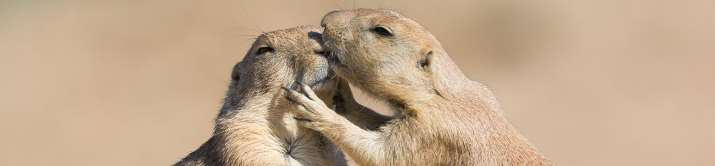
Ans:
{"type": "Polygon", "coordinates": [[[338,79],[321,53],[320,31],[300,26],[258,36],[234,67],[214,135],[175,165],[347,165],[332,142],[297,125],[280,90],[302,81],[332,102],[338,79]],[[275,50],[256,55],[262,46],[275,50]]]}

